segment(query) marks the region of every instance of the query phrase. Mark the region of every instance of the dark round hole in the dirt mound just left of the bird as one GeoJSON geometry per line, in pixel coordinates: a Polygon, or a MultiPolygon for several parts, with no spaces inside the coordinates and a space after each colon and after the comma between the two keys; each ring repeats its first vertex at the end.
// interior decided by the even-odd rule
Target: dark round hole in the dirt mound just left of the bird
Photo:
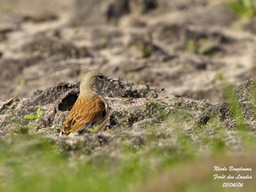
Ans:
{"type": "Polygon", "coordinates": [[[68,93],[59,103],[58,110],[60,111],[70,111],[72,107],[74,106],[76,100],[77,100],[78,94],[71,92],[68,93]]]}

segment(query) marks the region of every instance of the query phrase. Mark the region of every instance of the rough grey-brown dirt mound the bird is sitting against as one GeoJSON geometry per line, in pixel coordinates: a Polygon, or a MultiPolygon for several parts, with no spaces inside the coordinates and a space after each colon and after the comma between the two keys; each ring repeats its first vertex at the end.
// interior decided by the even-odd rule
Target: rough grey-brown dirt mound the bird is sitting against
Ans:
{"type": "MultiPolygon", "coordinates": [[[[116,145],[124,141],[129,141],[132,147],[140,147],[152,132],[158,138],[156,145],[175,143],[175,129],[180,126],[175,122],[183,121],[189,125],[185,123],[182,130],[195,142],[202,139],[198,138],[200,129],[204,129],[208,136],[214,136],[213,127],[218,124],[221,127],[218,132],[225,135],[221,142],[237,153],[243,150],[237,138],[237,131],[241,129],[241,118],[244,118],[242,124],[247,127],[246,131],[250,130],[253,134],[255,130],[254,104],[251,99],[254,85],[254,81],[248,81],[239,86],[236,102],[211,104],[205,100],[170,97],[149,86],[127,83],[122,79],[110,79],[108,86],[104,88],[104,95],[111,108],[108,130],[97,134],[86,133],[74,138],[60,138],[58,134],[61,124],[79,95],[79,82],[60,83],[44,91],[36,90],[29,98],[14,97],[1,102],[0,137],[40,134],[52,140],[61,150],[90,154],[99,149],[113,151],[116,145]],[[241,108],[244,117],[236,116],[234,104],[236,108],[241,108]],[[36,115],[38,108],[43,111],[42,118],[24,118],[24,115],[36,115]],[[122,139],[124,137],[125,140],[122,139]]],[[[199,151],[203,150],[205,153],[209,150],[204,144],[200,146],[199,151]]]]}

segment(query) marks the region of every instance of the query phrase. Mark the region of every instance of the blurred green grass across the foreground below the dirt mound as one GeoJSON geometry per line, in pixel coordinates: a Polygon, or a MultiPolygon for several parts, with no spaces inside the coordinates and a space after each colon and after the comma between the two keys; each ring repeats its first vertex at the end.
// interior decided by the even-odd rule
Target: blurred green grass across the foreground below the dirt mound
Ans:
{"type": "MultiPolygon", "coordinates": [[[[247,131],[232,87],[225,88],[225,98],[244,150],[255,147],[255,136],[247,131]]],[[[166,116],[156,102],[151,106],[163,114],[163,123],[144,127],[143,141],[137,145],[129,132],[120,133],[119,143],[106,144],[106,150],[95,153],[70,151],[53,138],[28,132],[1,137],[0,191],[144,191],[148,182],[156,182],[152,188],[159,191],[227,191],[222,182],[212,180],[211,164],[204,164],[218,157],[223,162],[234,159],[228,155],[227,127],[220,117],[212,116],[202,125],[191,109],[177,107],[166,116]],[[203,166],[204,172],[194,166],[203,166]],[[157,182],[168,172],[177,172],[177,177],[166,176],[166,186],[157,182]]]]}

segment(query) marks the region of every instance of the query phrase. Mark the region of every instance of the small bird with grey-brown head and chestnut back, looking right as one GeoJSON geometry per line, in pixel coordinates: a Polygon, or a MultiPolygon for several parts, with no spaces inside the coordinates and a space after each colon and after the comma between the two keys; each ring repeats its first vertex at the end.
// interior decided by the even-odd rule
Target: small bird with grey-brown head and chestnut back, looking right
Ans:
{"type": "Polygon", "coordinates": [[[90,71],[80,83],[79,96],[61,127],[61,135],[79,135],[94,130],[103,131],[109,120],[108,103],[102,96],[106,76],[90,71]]]}

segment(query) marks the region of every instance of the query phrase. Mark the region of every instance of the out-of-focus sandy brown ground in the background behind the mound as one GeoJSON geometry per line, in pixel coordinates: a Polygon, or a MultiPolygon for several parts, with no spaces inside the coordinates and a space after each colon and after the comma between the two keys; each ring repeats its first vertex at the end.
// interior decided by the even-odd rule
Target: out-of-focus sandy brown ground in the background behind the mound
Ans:
{"type": "Polygon", "coordinates": [[[77,82],[81,66],[211,102],[254,76],[254,24],[226,1],[145,2],[2,0],[0,99],[77,82]]]}

